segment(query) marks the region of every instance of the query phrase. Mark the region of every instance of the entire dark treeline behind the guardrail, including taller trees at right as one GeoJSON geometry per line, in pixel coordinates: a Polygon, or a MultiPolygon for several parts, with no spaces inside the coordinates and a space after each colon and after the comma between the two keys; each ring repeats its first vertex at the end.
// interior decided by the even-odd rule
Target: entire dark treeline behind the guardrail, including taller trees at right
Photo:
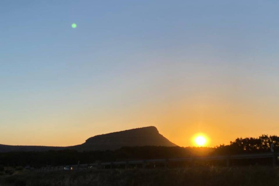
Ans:
{"type": "Polygon", "coordinates": [[[220,145],[215,148],[206,147],[122,147],[115,151],[84,151],[75,150],[45,151],[45,152],[9,152],[0,153],[0,165],[41,167],[46,165],[68,165],[94,163],[104,161],[138,160],[156,158],[179,158],[199,155],[229,155],[241,153],[270,152],[274,144],[278,150],[279,137],[262,135],[258,138],[237,138],[230,145],[220,145]]]}

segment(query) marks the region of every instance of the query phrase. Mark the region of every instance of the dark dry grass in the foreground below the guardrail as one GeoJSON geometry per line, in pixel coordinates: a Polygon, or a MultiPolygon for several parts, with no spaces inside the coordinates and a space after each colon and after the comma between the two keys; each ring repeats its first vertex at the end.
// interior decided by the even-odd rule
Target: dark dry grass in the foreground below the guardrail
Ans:
{"type": "Polygon", "coordinates": [[[271,167],[112,169],[1,176],[1,186],[266,186],[279,185],[271,167]]]}

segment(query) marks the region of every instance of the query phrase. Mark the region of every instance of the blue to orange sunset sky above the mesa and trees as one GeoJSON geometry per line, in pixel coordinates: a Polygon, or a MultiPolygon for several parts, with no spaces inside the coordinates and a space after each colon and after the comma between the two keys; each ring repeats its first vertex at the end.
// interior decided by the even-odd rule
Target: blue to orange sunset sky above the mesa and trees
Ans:
{"type": "Polygon", "coordinates": [[[279,135],[279,1],[0,1],[0,144],[156,126],[279,135]],[[71,24],[75,23],[76,28],[71,24]]]}

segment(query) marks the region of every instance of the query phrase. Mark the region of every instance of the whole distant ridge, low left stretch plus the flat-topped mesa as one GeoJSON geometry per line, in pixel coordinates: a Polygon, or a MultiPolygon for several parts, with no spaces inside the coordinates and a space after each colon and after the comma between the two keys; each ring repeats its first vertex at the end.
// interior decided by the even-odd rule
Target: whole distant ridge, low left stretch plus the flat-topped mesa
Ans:
{"type": "Polygon", "coordinates": [[[68,147],[1,145],[0,152],[49,151],[74,149],[78,151],[116,150],[123,146],[177,146],[159,133],[156,127],[135,128],[88,138],[85,143],[68,147]]]}

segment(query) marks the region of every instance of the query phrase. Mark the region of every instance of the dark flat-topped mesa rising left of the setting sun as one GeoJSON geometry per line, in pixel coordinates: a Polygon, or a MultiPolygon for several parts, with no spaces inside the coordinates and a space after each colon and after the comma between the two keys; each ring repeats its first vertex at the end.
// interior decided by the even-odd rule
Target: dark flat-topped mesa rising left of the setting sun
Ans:
{"type": "Polygon", "coordinates": [[[154,126],[135,128],[90,137],[78,150],[119,149],[123,146],[177,146],[159,134],[154,126]]]}

